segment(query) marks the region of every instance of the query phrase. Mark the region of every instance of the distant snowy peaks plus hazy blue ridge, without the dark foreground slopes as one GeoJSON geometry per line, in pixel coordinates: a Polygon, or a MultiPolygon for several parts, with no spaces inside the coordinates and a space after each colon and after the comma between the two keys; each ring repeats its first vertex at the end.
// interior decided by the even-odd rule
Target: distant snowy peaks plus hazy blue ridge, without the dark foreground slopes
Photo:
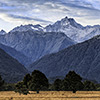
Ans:
{"type": "Polygon", "coordinates": [[[83,27],[73,18],[65,17],[46,27],[39,24],[15,27],[9,33],[0,36],[0,43],[25,56],[16,57],[17,53],[15,53],[13,57],[21,64],[28,66],[47,54],[88,40],[99,33],[99,25],[83,27]]]}

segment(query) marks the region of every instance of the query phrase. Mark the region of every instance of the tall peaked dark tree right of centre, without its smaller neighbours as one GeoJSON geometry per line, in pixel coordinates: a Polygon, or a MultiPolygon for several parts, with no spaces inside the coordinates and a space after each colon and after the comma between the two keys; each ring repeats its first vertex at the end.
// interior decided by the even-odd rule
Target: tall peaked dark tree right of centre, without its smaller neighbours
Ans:
{"type": "Polygon", "coordinates": [[[73,91],[75,93],[77,90],[82,90],[84,88],[83,83],[81,82],[82,78],[80,75],[76,74],[74,71],[69,71],[63,80],[63,90],[73,91]]]}

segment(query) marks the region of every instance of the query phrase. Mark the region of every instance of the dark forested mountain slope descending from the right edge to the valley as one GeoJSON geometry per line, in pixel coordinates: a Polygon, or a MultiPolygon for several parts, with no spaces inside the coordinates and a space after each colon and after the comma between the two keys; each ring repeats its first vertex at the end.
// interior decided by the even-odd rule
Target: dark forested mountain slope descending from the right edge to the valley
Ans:
{"type": "Polygon", "coordinates": [[[100,36],[44,56],[29,69],[40,70],[47,77],[65,76],[74,70],[83,78],[100,83],[100,36]]]}

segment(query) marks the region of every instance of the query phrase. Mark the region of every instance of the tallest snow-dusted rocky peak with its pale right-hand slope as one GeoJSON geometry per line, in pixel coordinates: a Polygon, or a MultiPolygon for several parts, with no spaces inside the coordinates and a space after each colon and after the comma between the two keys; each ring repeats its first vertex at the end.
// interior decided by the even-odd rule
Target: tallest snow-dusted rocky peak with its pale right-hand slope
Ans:
{"type": "Polygon", "coordinates": [[[73,18],[65,17],[53,25],[44,28],[46,32],[64,32],[69,38],[76,42],[83,42],[100,34],[100,25],[83,27],[73,18]]]}

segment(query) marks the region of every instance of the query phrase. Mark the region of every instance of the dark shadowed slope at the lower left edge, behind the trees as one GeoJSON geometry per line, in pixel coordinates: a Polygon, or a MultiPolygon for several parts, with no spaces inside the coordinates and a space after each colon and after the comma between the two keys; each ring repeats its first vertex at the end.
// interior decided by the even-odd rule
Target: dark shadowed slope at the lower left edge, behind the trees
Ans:
{"type": "Polygon", "coordinates": [[[21,81],[27,73],[27,69],[22,64],[0,49],[0,75],[6,82],[21,81]]]}

